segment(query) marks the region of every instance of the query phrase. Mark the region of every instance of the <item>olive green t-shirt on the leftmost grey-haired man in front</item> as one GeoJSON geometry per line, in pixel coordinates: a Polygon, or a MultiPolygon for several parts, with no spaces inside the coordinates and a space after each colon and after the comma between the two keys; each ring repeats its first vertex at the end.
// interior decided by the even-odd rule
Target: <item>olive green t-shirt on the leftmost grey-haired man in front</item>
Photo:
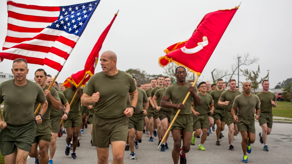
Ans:
{"type": "Polygon", "coordinates": [[[4,121],[11,125],[23,125],[35,120],[34,103],[44,103],[46,97],[41,86],[32,81],[19,87],[14,79],[0,84],[0,103],[4,101],[4,121]]]}

